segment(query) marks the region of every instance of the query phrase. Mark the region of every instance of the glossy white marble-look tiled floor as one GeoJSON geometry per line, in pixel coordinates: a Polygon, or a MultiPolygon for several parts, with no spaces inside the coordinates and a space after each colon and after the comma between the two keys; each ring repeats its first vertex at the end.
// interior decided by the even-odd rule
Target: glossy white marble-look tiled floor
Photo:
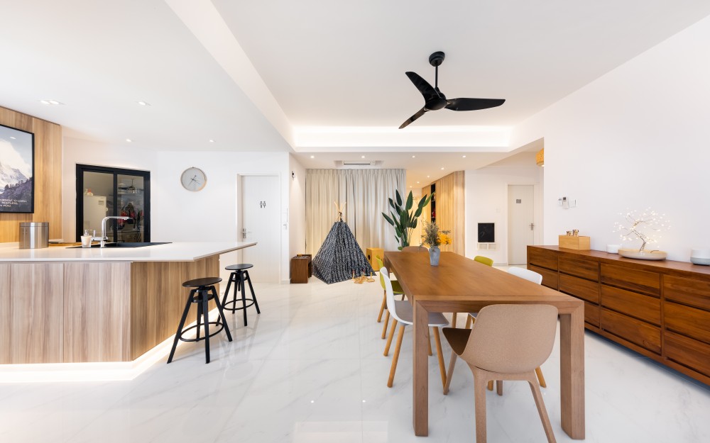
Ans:
{"type": "MultiPolygon", "coordinates": [[[[412,430],[408,330],[393,388],[378,282],[256,284],[261,315],[228,314],[234,342],[180,346],[133,381],[0,383],[0,442],[473,442],[472,378],[457,365],[442,396],[430,359],[430,437],[412,430]]],[[[461,321],[461,320],[459,320],[461,321]]],[[[448,364],[450,350],[444,343],[448,364]]],[[[542,366],[558,442],[559,359],[542,366]]],[[[710,442],[710,389],[586,335],[586,442],[710,442]]],[[[488,394],[488,442],[545,442],[530,389],[488,394]]]]}

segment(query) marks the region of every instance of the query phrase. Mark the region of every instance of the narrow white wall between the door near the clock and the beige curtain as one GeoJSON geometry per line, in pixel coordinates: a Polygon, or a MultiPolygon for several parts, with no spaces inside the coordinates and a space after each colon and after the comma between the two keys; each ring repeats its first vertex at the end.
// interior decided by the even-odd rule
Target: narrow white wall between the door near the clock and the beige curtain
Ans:
{"type": "Polygon", "coordinates": [[[306,169],[293,155],[288,156],[290,179],[288,232],[289,257],[306,251],[306,169]]]}

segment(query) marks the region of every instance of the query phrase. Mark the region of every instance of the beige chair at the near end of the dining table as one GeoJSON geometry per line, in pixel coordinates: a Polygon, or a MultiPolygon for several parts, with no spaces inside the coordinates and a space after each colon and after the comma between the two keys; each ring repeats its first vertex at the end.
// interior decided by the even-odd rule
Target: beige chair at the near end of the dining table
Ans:
{"type": "Polygon", "coordinates": [[[444,393],[458,355],[474,373],[476,443],[486,443],[486,383],[492,380],[530,383],[547,442],[555,443],[534,369],[550,357],[556,331],[557,308],[550,305],[490,305],[481,309],[473,329],[444,327],[454,349],[444,393]]]}

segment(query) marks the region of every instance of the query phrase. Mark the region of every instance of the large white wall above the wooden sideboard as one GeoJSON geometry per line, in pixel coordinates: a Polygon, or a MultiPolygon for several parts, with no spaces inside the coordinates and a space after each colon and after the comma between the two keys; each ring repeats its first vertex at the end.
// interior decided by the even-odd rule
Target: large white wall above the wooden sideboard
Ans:
{"type": "Polygon", "coordinates": [[[672,223],[654,249],[710,246],[708,42],[705,18],[515,128],[513,146],[545,138],[546,245],[574,228],[605,249],[619,213],[651,206],[672,223]]]}

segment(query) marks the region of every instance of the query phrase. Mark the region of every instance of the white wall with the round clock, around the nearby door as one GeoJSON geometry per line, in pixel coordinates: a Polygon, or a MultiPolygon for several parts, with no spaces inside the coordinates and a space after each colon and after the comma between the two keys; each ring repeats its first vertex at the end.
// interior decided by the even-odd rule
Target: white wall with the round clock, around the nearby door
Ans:
{"type": "MultiPolygon", "coordinates": [[[[151,239],[156,242],[236,242],[239,220],[239,174],[274,174],[280,179],[280,213],[288,211],[291,173],[288,152],[158,152],[151,174],[151,239]],[[207,176],[199,192],[186,191],[180,174],[198,167],[207,176]]],[[[280,280],[288,280],[289,231],[280,223],[280,280]]],[[[239,261],[236,252],[222,254],[222,267],[239,261]]],[[[229,273],[222,270],[222,278],[229,273]]]]}

